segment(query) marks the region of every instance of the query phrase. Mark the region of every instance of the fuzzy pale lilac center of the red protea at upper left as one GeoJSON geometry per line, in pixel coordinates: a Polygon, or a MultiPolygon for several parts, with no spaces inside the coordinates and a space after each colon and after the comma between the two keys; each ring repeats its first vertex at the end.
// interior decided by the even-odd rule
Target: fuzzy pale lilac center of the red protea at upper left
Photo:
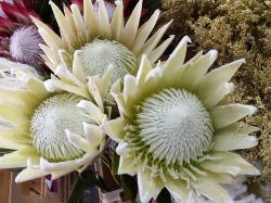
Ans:
{"type": "Polygon", "coordinates": [[[11,36],[10,52],[12,58],[18,62],[37,64],[41,62],[42,53],[39,43],[43,40],[34,26],[16,29],[11,36]]]}

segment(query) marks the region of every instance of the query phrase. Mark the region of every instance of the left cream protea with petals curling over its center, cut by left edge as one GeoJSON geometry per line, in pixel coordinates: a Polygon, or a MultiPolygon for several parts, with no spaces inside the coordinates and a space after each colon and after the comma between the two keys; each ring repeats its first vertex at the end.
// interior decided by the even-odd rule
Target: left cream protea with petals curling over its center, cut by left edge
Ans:
{"type": "MultiPolygon", "coordinates": [[[[9,65],[16,63],[1,61],[9,65]]],[[[0,78],[0,148],[14,150],[0,157],[0,168],[26,167],[17,182],[83,170],[105,144],[103,110],[76,89],[51,93],[33,74],[13,74],[0,78]]]]}

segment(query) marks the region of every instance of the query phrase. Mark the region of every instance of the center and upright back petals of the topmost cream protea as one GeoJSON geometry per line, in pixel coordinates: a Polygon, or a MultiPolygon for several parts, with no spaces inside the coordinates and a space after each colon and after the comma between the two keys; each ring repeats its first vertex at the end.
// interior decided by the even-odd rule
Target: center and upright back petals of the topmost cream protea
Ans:
{"type": "Polygon", "coordinates": [[[44,51],[47,65],[55,73],[60,64],[65,64],[73,73],[102,76],[108,65],[113,66],[113,83],[122,79],[128,73],[134,74],[142,54],[154,63],[163,54],[173,36],[158,46],[170,23],[159,28],[150,37],[159,15],[159,11],[139,28],[142,0],[134,8],[125,24],[122,2],[116,1],[112,16],[103,0],[99,0],[99,12],[93,9],[91,0],[83,1],[83,16],[76,4],[70,10],[64,7],[64,14],[51,2],[55,20],[60,26],[61,37],[47,25],[34,18],[47,46],[44,51]],[[77,63],[74,63],[74,62],[77,63]],[[75,64],[80,63],[80,68],[75,64]]]}

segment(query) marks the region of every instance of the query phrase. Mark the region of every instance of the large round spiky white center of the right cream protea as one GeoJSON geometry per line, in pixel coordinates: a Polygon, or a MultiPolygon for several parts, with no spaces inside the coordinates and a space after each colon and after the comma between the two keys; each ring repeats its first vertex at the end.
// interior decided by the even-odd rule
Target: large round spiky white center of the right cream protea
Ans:
{"type": "Polygon", "coordinates": [[[173,165],[196,161],[212,141],[209,113],[195,94],[183,89],[164,89],[145,99],[137,125],[141,142],[129,142],[152,162],[173,165]],[[139,148],[139,143],[143,145],[139,148]]]}

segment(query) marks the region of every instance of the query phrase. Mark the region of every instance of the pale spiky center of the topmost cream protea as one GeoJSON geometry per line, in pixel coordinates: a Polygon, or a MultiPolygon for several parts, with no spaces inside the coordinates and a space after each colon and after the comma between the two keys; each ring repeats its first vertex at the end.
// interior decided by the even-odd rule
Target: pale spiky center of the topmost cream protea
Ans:
{"type": "Polygon", "coordinates": [[[82,49],[80,59],[87,75],[100,75],[113,65],[113,83],[137,68],[137,59],[125,46],[117,41],[95,39],[82,49]]]}

